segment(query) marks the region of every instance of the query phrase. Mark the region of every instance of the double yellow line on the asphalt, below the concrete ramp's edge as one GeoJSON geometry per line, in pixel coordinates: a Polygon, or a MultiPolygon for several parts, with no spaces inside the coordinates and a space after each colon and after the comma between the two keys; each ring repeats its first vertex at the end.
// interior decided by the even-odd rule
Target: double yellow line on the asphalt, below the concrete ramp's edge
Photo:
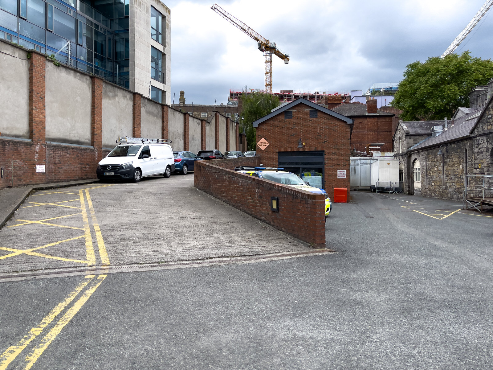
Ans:
{"type": "Polygon", "coordinates": [[[77,287],[70,292],[70,294],[58,305],[46,315],[41,322],[32,328],[27,335],[24,336],[16,345],[10,346],[0,356],[0,370],[5,370],[7,366],[31,343],[36,336],[41,334],[43,330],[53,321],[56,317],[75,299],[75,297],[86,286],[89,288],[82,293],[75,303],[63,314],[58,322],[50,329],[50,331],[41,339],[41,341],[34,347],[34,349],[26,356],[25,370],[31,369],[39,356],[50,345],[55,337],[62,331],[62,329],[70,322],[72,317],[79,311],[90,296],[98,289],[101,283],[105,280],[106,275],[87,275],[84,280],[77,285],[77,287]]]}

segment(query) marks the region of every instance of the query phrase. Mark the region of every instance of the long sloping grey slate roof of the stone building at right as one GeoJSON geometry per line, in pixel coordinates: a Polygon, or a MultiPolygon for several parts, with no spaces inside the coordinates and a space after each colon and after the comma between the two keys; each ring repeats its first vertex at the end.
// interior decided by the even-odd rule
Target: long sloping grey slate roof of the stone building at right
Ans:
{"type": "MultiPolygon", "coordinates": [[[[469,133],[476,125],[476,122],[481,117],[485,108],[481,108],[472,113],[463,115],[462,117],[454,120],[454,125],[447,127],[443,132],[435,137],[429,137],[423,140],[421,143],[409,148],[409,151],[421,150],[433,146],[440,145],[442,143],[462,139],[469,136],[469,133]]],[[[440,121],[443,122],[443,121],[440,121]]]]}

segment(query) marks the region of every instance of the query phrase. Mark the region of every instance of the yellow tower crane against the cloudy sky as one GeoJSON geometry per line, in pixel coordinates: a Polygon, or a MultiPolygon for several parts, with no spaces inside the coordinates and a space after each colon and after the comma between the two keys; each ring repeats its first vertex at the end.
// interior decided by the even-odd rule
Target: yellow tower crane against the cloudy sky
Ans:
{"type": "Polygon", "coordinates": [[[238,27],[240,30],[245,32],[246,35],[257,41],[258,50],[264,53],[264,58],[265,58],[265,64],[264,64],[265,91],[271,94],[272,93],[272,54],[284,60],[284,64],[289,63],[289,56],[286,53],[283,53],[281,50],[279,50],[275,42],[269,42],[267,38],[253,31],[245,23],[243,23],[238,18],[229,14],[226,10],[221,8],[219,5],[214,4],[211,6],[211,9],[214,10],[221,17],[223,17],[224,19],[228,20],[233,25],[238,27]]]}

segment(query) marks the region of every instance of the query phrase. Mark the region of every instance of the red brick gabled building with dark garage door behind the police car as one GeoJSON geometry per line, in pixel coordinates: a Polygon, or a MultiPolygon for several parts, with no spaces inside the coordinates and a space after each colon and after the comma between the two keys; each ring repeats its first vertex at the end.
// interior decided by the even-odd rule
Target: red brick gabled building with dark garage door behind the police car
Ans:
{"type": "Polygon", "coordinates": [[[282,167],[333,198],[346,188],[349,199],[349,154],[352,119],[300,98],[253,122],[260,162],[282,167]]]}

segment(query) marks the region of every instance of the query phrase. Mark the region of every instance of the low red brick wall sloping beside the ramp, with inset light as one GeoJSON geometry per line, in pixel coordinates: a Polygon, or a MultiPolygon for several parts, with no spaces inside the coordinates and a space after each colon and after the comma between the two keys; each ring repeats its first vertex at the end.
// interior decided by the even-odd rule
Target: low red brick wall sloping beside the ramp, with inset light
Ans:
{"type": "Polygon", "coordinates": [[[195,187],[314,248],[325,248],[323,195],[254,178],[211,162],[195,162],[195,187]],[[272,196],[279,198],[279,212],[271,211],[272,196]]]}

